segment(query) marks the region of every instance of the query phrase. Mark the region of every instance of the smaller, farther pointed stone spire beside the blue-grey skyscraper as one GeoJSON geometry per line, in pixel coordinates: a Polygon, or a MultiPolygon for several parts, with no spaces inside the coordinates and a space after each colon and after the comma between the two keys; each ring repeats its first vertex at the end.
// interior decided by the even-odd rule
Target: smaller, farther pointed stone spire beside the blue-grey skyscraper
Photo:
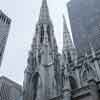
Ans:
{"type": "Polygon", "coordinates": [[[63,15],[63,49],[72,49],[74,47],[70,33],[67,28],[65,16],[63,15]]]}

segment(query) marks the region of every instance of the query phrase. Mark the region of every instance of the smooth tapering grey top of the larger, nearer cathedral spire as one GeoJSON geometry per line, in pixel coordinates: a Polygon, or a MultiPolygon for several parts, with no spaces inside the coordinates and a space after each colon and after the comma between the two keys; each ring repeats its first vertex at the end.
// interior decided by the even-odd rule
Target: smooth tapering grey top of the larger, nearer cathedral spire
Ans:
{"type": "Polygon", "coordinates": [[[43,0],[42,6],[40,9],[39,22],[47,23],[48,21],[50,21],[50,17],[49,17],[49,9],[48,9],[48,5],[47,5],[47,0],[43,0]]]}

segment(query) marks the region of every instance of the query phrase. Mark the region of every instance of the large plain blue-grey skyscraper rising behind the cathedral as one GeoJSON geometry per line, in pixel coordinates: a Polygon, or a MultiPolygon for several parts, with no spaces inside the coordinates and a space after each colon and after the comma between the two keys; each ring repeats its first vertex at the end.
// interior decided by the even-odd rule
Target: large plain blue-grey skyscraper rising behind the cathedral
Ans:
{"type": "Polygon", "coordinates": [[[89,42],[100,49],[100,1],[70,0],[67,4],[72,35],[80,55],[90,52],[89,42]]]}

